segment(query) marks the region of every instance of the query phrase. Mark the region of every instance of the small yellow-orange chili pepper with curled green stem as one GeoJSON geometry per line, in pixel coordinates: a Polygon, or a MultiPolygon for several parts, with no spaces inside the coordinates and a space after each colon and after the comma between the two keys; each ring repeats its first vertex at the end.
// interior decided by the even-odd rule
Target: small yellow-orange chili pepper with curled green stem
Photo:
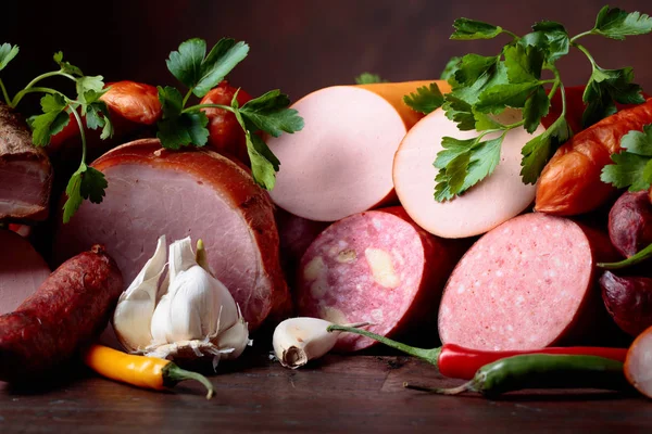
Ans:
{"type": "Polygon", "coordinates": [[[102,345],[91,345],[83,355],[84,362],[102,376],[138,387],[164,391],[179,381],[197,380],[213,396],[213,384],[200,373],[186,371],[170,360],[137,356],[102,345]]]}

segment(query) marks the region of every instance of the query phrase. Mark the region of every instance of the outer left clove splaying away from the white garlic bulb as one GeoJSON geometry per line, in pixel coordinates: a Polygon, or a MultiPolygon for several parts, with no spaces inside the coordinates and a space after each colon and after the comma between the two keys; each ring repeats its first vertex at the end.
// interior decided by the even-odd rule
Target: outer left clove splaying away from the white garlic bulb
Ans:
{"type": "Polygon", "coordinates": [[[165,270],[165,235],[162,235],[153,256],[121,294],[115,307],[113,329],[122,346],[129,352],[143,349],[152,340],[150,323],[156,305],[159,280],[165,270]]]}

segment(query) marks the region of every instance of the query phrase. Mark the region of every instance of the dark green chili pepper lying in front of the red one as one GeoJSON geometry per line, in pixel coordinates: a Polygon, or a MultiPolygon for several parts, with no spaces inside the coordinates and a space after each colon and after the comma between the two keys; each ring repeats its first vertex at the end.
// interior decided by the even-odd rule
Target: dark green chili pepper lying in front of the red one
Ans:
{"type": "Polygon", "coordinates": [[[417,391],[456,395],[479,392],[497,396],[524,388],[630,388],[620,361],[597,356],[535,354],[507,357],[478,369],[473,380],[453,388],[403,384],[417,391]]]}

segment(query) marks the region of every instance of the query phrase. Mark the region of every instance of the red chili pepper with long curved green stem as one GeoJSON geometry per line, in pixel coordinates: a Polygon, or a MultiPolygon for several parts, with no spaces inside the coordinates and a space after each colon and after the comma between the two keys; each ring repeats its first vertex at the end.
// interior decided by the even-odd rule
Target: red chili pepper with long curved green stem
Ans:
{"type": "Polygon", "coordinates": [[[528,354],[598,356],[620,362],[624,362],[625,357],[627,356],[627,348],[604,348],[595,346],[547,347],[529,350],[488,352],[465,348],[455,344],[446,344],[438,348],[426,349],[401,344],[400,342],[396,342],[379,334],[354,327],[328,326],[328,331],[349,332],[371,337],[387,346],[435,365],[442,375],[462,380],[471,380],[481,367],[512,356],[528,354]]]}

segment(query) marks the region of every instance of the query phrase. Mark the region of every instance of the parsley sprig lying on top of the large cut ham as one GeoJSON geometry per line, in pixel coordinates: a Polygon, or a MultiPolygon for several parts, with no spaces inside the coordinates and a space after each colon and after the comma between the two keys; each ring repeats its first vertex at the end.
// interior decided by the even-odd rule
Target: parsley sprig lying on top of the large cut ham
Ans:
{"type": "Polygon", "coordinates": [[[208,54],[206,42],[199,38],[189,39],[179,46],[178,51],[173,51],[166,62],[167,68],[188,87],[188,91],[183,95],[174,87],[158,87],[163,117],[158,124],[156,137],[167,149],[203,146],[209,140],[209,119],[201,108],[216,107],[231,112],[244,131],[253,179],[261,187],[272,190],[280,162],[259,132],[278,137],[283,132],[292,133],[303,128],[303,119],[297,111],[288,108],[290,100],[286,94],[272,90],[240,106],[236,93],[230,105],[187,106],[191,95],[204,97],[248,52],[247,43],[226,38],[221,39],[208,54]]]}

